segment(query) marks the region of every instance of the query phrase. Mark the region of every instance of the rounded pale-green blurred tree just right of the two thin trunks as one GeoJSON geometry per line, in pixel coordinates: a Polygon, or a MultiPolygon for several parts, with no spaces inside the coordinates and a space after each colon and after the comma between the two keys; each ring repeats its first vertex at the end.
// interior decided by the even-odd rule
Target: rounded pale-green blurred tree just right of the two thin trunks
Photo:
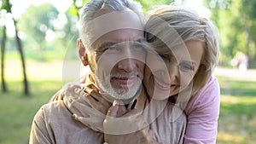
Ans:
{"type": "Polygon", "coordinates": [[[60,24],[56,21],[58,14],[58,10],[53,5],[44,3],[30,6],[21,15],[19,26],[23,31],[22,38],[27,51],[31,55],[36,55],[38,60],[46,60],[44,51],[48,48],[49,42],[53,40],[55,30],[60,26],[55,25],[60,24]]]}

